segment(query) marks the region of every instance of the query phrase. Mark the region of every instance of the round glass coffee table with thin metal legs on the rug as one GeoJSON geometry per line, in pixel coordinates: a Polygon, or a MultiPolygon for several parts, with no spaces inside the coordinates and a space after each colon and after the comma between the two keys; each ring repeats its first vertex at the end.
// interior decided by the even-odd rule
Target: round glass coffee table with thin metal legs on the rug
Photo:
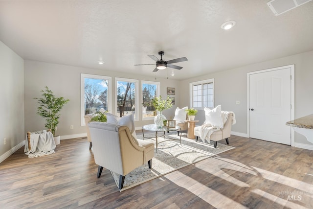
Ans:
{"type": "MultiPolygon", "coordinates": [[[[144,125],[144,126],[142,126],[143,140],[144,139],[153,139],[153,140],[155,140],[154,138],[145,137],[145,134],[144,134],[143,130],[156,132],[156,152],[157,152],[157,138],[158,137],[163,137],[165,139],[165,132],[169,133],[170,131],[181,131],[180,127],[178,125],[176,125],[175,128],[174,127],[173,128],[169,128],[167,126],[157,127],[156,124],[144,125]],[[160,136],[157,136],[157,132],[163,132],[163,134],[160,135],[160,136]]],[[[179,140],[179,143],[181,144],[181,140],[180,139],[181,139],[181,135],[180,135],[179,139],[172,139],[172,138],[169,138],[167,136],[167,140],[179,140]]]]}

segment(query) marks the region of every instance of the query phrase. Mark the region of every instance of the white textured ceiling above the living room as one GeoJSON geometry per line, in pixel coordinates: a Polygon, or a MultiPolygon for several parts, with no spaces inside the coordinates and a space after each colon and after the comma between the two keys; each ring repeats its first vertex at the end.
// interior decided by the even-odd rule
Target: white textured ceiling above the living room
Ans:
{"type": "Polygon", "coordinates": [[[188,58],[175,64],[179,80],[313,50],[313,1],[277,17],[267,2],[0,1],[0,41],[24,59],[149,76],[155,66],[134,64],[163,50],[164,60],[188,58]]]}

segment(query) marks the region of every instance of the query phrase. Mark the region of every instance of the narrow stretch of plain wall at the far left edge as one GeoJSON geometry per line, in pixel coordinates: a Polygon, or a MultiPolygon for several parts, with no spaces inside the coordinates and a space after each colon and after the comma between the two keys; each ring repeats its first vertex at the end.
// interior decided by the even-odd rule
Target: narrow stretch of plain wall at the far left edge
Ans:
{"type": "Polygon", "coordinates": [[[23,59],[1,41],[0,70],[0,156],[2,156],[23,142],[25,135],[23,59]]]}

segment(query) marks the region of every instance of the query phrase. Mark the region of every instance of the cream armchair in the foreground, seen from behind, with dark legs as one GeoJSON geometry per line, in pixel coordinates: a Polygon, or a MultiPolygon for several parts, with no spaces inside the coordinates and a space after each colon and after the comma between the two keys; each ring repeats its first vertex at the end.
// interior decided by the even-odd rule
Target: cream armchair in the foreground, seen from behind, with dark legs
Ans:
{"type": "Polygon", "coordinates": [[[127,126],[115,123],[91,122],[88,124],[93,143],[93,157],[100,178],[103,167],[120,175],[119,189],[125,176],[148,162],[152,166],[154,143],[135,139],[127,126]]]}

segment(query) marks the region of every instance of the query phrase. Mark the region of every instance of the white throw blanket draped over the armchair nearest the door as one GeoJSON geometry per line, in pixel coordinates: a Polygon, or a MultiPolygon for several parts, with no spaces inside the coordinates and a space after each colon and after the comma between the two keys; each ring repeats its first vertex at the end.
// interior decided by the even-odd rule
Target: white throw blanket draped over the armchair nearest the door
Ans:
{"type": "MultiPolygon", "coordinates": [[[[236,123],[236,118],[235,118],[235,114],[231,111],[221,111],[221,116],[223,119],[223,124],[225,124],[225,122],[228,119],[229,114],[232,113],[232,125],[236,123]]],[[[210,137],[212,135],[213,132],[221,130],[218,127],[212,126],[211,124],[203,124],[200,127],[200,138],[201,139],[206,139],[208,142],[210,142],[210,137]]]]}

